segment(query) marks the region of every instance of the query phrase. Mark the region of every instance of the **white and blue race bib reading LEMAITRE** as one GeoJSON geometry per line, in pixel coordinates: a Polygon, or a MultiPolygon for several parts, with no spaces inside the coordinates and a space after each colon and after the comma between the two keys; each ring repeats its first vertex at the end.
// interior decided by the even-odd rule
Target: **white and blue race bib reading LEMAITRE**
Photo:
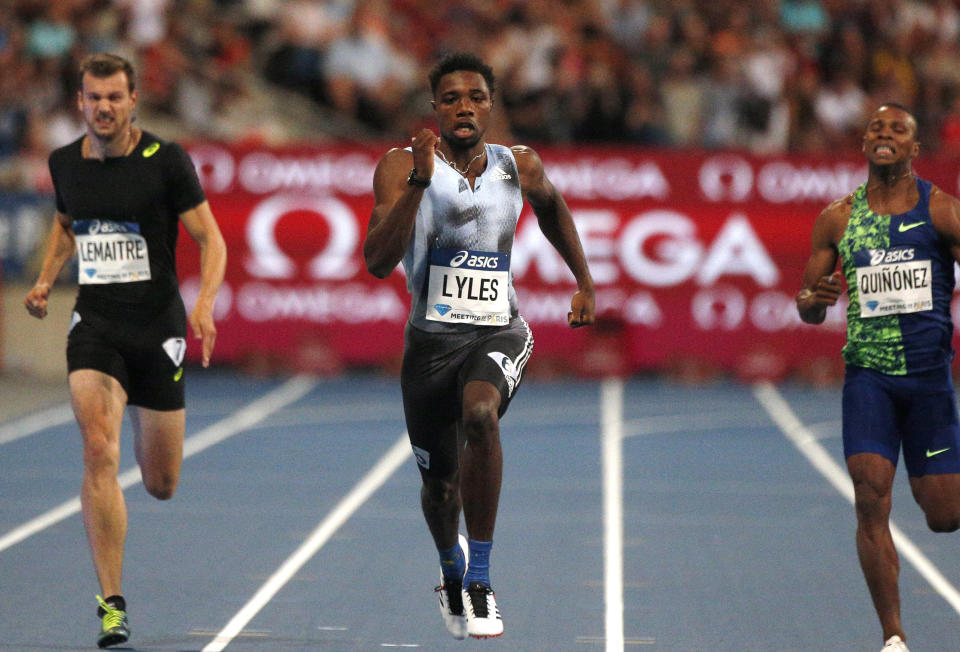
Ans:
{"type": "Polygon", "coordinates": [[[150,254],[147,241],[136,222],[77,220],[81,285],[132,283],[150,280],[150,254]]]}

